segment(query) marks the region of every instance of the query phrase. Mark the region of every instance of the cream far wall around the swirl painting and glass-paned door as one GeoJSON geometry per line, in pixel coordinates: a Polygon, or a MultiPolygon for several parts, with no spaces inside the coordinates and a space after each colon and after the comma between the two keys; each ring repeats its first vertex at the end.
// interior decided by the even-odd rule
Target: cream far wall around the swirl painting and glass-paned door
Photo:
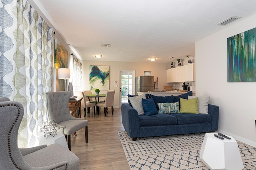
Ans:
{"type": "MultiPolygon", "coordinates": [[[[110,66],[110,90],[115,90],[114,96],[114,107],[119,106],[119,70],[135,70],[135,76],[143,76],[144,71],[151,71],[151,75],[154,76],[154,80],[158,77],[158,87],[159,90],[164,90],[164,85],[166,83],[166,69],[170,68],[170,63],[133,63],[133,62],[116,62],[116,61],[86,61],[82,62],[82,89],[81,90],[90,90],[89,86],[89,67],[90,65],[102,65],[110,66]],[[118,87],[114,87],[114,81],[118,82],[118,87]]],[[[135,78],[135,77],[134,77],[135,78]]],[[[92,93],[94,93],[92,91],[92,93]]],[[[106,91],[100,91],[100,93],[106,94],[106,91]]],[[[135,94],[134,94],[135,95],[135,94]]]]}

